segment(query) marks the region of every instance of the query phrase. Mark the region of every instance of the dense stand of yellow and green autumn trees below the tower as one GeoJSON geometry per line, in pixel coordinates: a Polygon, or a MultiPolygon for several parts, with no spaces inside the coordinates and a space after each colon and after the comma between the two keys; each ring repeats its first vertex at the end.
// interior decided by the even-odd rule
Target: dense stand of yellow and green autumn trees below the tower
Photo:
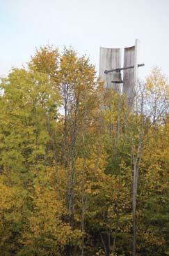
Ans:
{"type": "Polygon", "coordinates": [[[168,80],[134,110],[72,49],[1,79],[0,255],[169,255],[168,80]]]}

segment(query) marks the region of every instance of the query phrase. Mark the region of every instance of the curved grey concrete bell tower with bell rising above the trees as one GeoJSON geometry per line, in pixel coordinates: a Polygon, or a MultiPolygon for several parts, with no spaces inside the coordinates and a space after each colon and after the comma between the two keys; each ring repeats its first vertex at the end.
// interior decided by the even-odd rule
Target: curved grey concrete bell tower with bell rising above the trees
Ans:
{"type": "Polygon", "coordinates": [[[144,66],[138,64],[138,48],[138,39],[134,46],[124,48],[123,66],[122,49],[101,47],[99,52],[99,76],[104,82],[105,89],[113,89],[115,92],[122,90],[122,94],[127,95],[127,102],[131,108],[134,104],[138,67],[144,66]]]}

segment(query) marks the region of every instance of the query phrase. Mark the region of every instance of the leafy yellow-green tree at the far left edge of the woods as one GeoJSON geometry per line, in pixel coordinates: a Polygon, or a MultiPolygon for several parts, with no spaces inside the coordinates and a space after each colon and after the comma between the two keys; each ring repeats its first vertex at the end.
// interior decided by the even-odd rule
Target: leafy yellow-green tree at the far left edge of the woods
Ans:
{"type": "Polygon", "coordinates": [[[33,207],[33,179],[53,162],[46,121],[58,115],[58,91],[53,86],[46,75],[24,69],[14,69],[1,83],[0,164],[3,186],[12,193],[3,218],[3,232],[9,231],[3,236],[3,255],[19,250],[33,207]],[[8,243],[14,243],[12,249],[8,243]]]}

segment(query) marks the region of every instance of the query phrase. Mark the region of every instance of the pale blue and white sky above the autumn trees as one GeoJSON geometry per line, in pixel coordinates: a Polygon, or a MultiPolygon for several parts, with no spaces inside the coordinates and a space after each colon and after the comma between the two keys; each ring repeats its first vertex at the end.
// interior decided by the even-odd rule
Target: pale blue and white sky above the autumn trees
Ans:
{"type": "Polygon", "coordinates": [[[169,75],[169,0],[0,0],[0,76],[22,67],[41,45],[86,54],[99,69],[99,47],[140,40],[139,76],[169,75]]]}

